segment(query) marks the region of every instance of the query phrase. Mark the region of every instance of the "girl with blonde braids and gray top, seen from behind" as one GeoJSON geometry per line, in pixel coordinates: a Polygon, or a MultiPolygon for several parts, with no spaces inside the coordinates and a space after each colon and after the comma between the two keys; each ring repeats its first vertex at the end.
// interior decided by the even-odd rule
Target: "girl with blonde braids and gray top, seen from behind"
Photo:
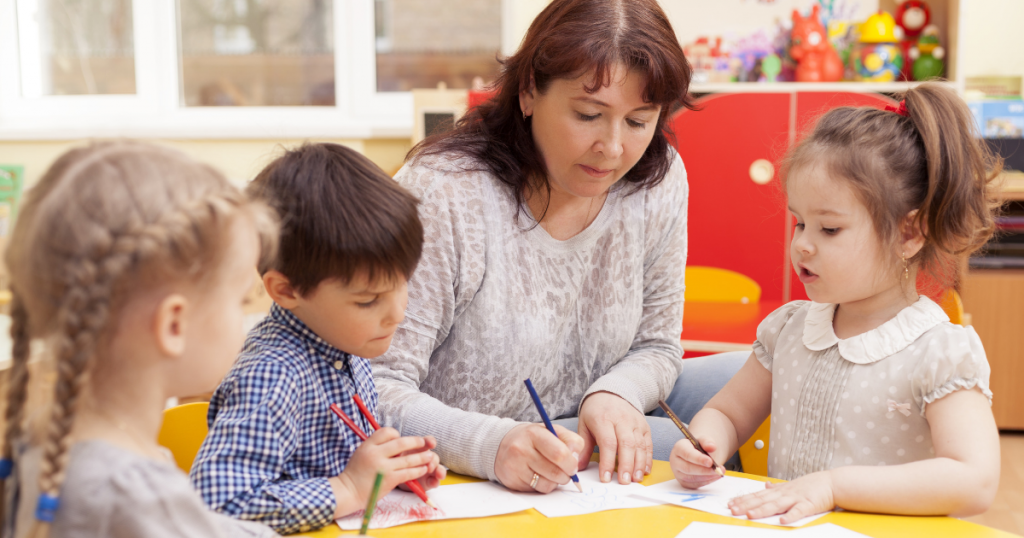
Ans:
{"type": "Polygon", "coordinates": [[[29,192],[6,256],[4,536],[275,536],[209,511],[156,442],[167,399],[212,389],[241,345],[276,237],[266,211],[213,169],[131,141],[73,150],[29,192]],[[23,432],[33,338],[55,382],[23,432]]]}

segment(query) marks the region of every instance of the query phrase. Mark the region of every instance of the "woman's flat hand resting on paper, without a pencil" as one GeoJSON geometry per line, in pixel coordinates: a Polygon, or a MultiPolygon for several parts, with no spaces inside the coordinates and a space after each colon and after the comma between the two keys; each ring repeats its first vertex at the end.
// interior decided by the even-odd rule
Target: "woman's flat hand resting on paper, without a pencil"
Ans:
{"type": "Polygon", "coordinates": [[[611,392],[594,392],[587,397],[580,408],[580,434],[585,445],[579,469],[587,468],[594,445],[600,450],[598,471],[601,482],[611,482],[615,475],[620,484],[640,482],[650,473],[654,459],[654,445],[650,439],[650,425],[643,413],[611,392]]]}

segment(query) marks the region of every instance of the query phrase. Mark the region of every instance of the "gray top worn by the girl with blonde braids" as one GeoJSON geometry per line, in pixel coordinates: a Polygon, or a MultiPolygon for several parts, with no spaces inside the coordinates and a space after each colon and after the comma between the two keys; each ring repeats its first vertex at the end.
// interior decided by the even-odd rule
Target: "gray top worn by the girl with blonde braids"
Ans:
{"type": "MultiPolygon", "coordinates": [[[[8,481],[7,488],[7,513],[15,513],[15,532],[11,533],[8,520],[4,538],[22,538],[32,531],[41,456],[39,448],[32,448],[17,458],[17,480],[8,481]]],[[[156,461],[98,440],[72,447],[60,506],[50,528],[50,538],[270,536],[278,534],[262,525],[232,520],[207,508],[188,477],[173,463],[156,461]]]]}

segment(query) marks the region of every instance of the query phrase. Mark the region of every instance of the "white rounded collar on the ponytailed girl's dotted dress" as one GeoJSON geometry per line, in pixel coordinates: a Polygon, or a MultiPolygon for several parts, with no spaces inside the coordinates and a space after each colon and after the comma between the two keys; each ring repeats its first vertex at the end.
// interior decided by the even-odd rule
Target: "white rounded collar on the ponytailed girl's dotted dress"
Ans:
{"type": "Polygon", "coordinates": [[[922,295],[895,318],[845,340],[836,336],[833,317],[836,304],[811,302],[804,321],[804,345],[812,351],[839,344],[839,354],[855,364],[871,364],[903,350],[936,325],[949,321],[942,307],[922,295]]]}

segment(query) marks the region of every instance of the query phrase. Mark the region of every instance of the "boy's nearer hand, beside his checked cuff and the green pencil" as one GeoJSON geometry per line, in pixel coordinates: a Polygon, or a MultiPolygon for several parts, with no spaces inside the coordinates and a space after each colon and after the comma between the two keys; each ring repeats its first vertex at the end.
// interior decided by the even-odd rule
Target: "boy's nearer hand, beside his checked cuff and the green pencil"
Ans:
{"type": "MultiPolygon", "coordinates": [[[[433,438],[430,440],[433,441],[433,438]]],[[[390,427],[382,427],[355,449],[345,470],[330,479],[337,509],[341,518],[365,508],[373,490],[377,471],[384,473],[378,498],[390,493],[395,486],[427,474],[437,465],[437,455],[427,448],[424,438],[403,438],[390,427]]]]}

